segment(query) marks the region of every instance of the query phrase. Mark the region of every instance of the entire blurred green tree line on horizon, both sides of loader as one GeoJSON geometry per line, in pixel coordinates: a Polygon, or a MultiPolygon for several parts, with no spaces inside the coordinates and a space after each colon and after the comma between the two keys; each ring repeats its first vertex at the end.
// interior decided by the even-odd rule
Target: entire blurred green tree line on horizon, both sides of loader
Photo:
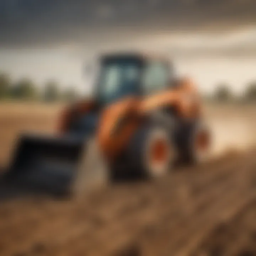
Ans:
{"type": "MultiPolygon", "coordinates": [[[[0,73],[0,100],[38,100],[45,102],[73,101],[78,97],[74,86],[64,90],[54,80],[49,80],[44,85],[42,91],[29,78],[23,78],[13,82],[6,73],[0,73]]],[[[218,102],[241,101],[256,102],[256,81],[245,86],[244,94],[235,96],[228,84],[216,86],[213,94],[206,96],[207,100],[218,102]]]]}

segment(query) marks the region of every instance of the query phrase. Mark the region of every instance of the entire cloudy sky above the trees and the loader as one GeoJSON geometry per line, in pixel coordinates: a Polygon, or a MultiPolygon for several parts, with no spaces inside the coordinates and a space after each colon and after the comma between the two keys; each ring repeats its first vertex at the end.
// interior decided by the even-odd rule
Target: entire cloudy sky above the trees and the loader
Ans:
{"type": "Polygon", "coordinates": [[[86,94],[83,66],[108,50],[173,60],[203,92],[256,80],[255,0],[0,0],[0,71],[86,94]]]}

